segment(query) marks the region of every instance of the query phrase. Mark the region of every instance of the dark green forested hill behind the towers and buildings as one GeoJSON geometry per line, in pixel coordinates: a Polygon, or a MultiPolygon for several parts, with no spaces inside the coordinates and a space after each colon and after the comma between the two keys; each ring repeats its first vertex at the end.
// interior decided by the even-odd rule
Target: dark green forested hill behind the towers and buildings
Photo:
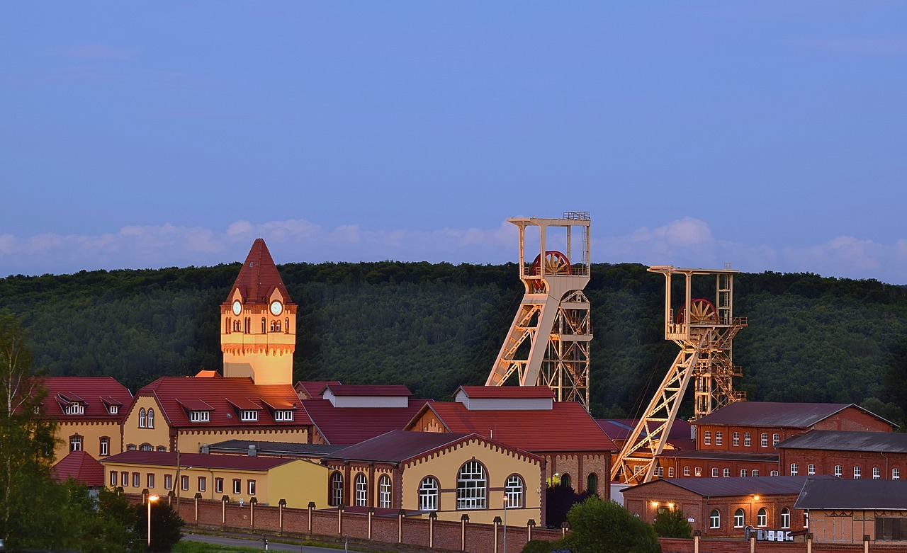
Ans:
{"type": "MultiPolygon", "coordinates": [[[[522,298],[515,264],[278,268],[299,306],[296,380],[403,383],[416,397],[484,383],[522,298]]],[[[239,263],[9,276],[0,308],[24,317],[48,374],[110,375],[134,392],[162,375],[220,368],[219,304],[238,273],[239,263]]],[[[633,415],[678,352],[662,334],[664,276],[597,264],[586,293],[592,412],[633,415]]],[[[734,301],[749,321],[734,343],[749,399],[860,403],[905,426],[907,288],[744,273],[734,301]]]]}

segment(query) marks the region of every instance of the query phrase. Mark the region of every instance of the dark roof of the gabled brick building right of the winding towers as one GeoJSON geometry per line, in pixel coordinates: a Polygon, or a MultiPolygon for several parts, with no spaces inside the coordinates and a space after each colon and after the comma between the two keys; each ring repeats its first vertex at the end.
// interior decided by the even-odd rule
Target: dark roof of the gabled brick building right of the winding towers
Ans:
{"type": "Polygon", "coordinates": [[[854,407],[885,421],[877,414],[853,403],[735,402],[697,419],[696,424],[810,428],[836,412],[844,411],[847,407],[854,407]]]}

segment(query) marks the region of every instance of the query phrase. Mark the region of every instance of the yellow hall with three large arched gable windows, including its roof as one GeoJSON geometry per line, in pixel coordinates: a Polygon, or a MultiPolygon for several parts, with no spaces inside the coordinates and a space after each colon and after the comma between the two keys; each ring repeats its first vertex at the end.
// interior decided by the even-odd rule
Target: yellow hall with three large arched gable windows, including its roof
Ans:
{"type": "Polygon", "coordinates": [[[506,502],[508,525],[544,524],[544,460],[476,434],[387,432],[322,462],[332,506],[490,524],[506,502]]]}

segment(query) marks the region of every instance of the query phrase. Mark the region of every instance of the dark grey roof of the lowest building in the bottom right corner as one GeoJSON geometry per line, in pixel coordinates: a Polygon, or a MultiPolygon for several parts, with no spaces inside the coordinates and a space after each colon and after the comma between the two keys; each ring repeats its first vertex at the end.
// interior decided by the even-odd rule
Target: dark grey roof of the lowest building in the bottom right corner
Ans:
{"type": "Polygon", "coordinates": [[[907,509],[907,480],[811,480],[795,509],[907,509]]]}

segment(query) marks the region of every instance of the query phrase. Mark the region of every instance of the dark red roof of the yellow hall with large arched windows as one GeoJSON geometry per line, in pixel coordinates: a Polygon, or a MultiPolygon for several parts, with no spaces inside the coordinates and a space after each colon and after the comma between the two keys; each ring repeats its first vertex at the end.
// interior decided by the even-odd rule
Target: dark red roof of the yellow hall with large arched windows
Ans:
{"type": "MultiPolygon", "coordinates": [[[[334,461],[400,463],[411,461],[427,453],[470,439],[497,443],[505,449],[515,449],[506,446],[500,441],[490,441],[474,433],[452,434],[449,432],[409,432],[394,430],[357,443],[356,445],[351,445],[348,448],[336,451],[336,453],[325,455],[324,459],[334,461]]],[[[519,452],[526,457],[541,460],[540,457],[527,453],[526,451],[519,452]]]]}

